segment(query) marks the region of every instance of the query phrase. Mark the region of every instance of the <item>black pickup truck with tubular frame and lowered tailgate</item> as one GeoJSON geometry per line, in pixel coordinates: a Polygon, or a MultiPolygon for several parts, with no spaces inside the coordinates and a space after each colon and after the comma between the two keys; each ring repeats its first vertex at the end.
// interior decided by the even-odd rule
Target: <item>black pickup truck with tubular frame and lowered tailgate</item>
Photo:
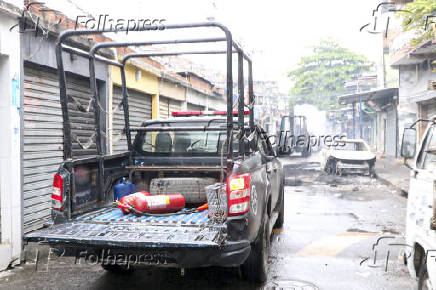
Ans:
{"type": "MultiPolygon", "coordinates": [[[[224,52],[227,53],[228,80],[231,80],[232,76],[229,55],[234,53],[233,48],[236,48],[241,60],[239,64],[243,58],[249,61],[248,90],[252,103],[254,96],[251,60],[231,41],[231,34],[224,26],[200,23],[170,25],[165,28],[205,26],[218,27],[226,32],[226,38],[221,41],[230,44],[224,52]]],[[[244,111],[243,78],[238,77],[240,102],[237,111],[233,111],[232,82],[228,81],[227,111],[214,112],[212,116],[206,116],[202,112],[191,114],[195,116],[181,113],[179,115],[185,116],[149,120],[140,127],[130,127],[128,90],[124,75],[125,61],[118,64],[100,58],[100,61],[121,68],[124,82],[124,131],[129,150],[121,154],[105,155],[97,146],[97,156],[75,159],[71,154],[71,128],[65,101],[68,99],[65,72],[62,57],[59,55],[67,50],[69,53],[89,57],[91,88],[95,89],[92,61],[95,58],[95,47],[87,53],[68,49],[62,42],[71,36],[101,32],[76,30],[66,31],[60,35],[56,53],[64,114],[65,161],[60,165],[53,182],[53,225],[26,234],[24,240],[46,243],[57,249],[56,253],[75,256],[76,260],[90,257],[95,260],[97,257],[103,268],[108,271],[142,265],[182,269],[241,266],[242,273],[247,279],[265,281],[272,228],[281,227],[283,224],[283,171],[268,136],[254,122],[253,106],[248,106],[249,110],[244,111]],[[234,115],[237,115],[237,118],[234,119],[234,115]],[[132,132],[136,134],[134,138],[132,132]],[[123,214],[120,209],[113,206],[114,186],[121,178],[127,178],[134,183],[136,190],[150,192],[159,186],[159,182],[172,182],[188,197],[187,209],[184,212],[158,216],[123,214]],[[195,187],[193,183],[198,186],[195,187]],[[205,186],[211,184],[218,184],[224,192],[224,214],[209,216],[208,210],[194,210],[199,202],[206,200],[205,186]],[[196,192],[195,198],[190,199],[193,192],[196,192]]],[[[198,40],[201,41],[205,40],[198,40]]],[[[132,44],[103,45],[121,47],[132,44]]],[[[134,45],[139,43],[136,42],[134,45]]],[[[144,54],[137,56],[143,57],[144,54]]],[[[242,75],[242,67],[238,66],[239,76],[242,75]]],[[[95,90],[94,97],[98,100],[98,90],[95,90]]],[[[94,108],[96,142],[99,144],[99,124],[102,122],[99,119],[100,108],[98,105],[94,108]]],[[[163,192],[174,193],[165,190],[163,192]]]]}

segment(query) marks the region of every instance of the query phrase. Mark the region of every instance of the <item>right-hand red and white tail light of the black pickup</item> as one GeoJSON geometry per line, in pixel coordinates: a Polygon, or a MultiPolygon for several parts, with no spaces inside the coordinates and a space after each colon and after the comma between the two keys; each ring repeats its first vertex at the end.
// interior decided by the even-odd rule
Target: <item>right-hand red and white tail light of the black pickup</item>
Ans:
{"type": "Polygon", "coordinates": [[[228,215],[247,213],[250,209],[250,173],[230,176],[227,182],[228,215]]]}

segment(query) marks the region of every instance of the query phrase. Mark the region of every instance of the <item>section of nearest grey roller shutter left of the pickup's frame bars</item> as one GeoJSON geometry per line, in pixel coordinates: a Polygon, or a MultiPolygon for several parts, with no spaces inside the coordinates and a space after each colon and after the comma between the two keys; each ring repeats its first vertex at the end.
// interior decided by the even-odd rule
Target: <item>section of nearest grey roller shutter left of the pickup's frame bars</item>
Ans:
{"type": "Polygon", "coordinates": [[[56,75],[24,70],[24,232],[50,216],[53,175],[63,160],[62,112],[56,75]]]}

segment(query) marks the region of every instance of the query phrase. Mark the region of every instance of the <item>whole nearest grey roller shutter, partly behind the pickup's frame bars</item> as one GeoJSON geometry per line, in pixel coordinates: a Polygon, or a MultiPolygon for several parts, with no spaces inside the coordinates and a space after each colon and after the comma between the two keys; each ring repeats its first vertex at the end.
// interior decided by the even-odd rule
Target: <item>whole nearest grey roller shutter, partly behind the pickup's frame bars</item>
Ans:
{"type": "MultiPolygon", "coordinates": [[[[68,107],[73,135],[73,154],[96,154],[93,110],[89,105],[89,81],[68,79],[68,107]]],[[[59,84],[53,71],[24,70],[24,232],[42,227],[50,216],[53,175],[63,160],[62,112],[59,84]]]]}

